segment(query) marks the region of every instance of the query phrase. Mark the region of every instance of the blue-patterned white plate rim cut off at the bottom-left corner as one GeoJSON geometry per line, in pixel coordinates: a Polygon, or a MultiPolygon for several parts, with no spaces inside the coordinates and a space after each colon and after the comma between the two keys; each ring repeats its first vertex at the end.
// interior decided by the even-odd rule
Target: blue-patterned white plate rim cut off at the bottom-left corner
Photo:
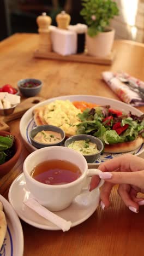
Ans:
{"type": "Polygon", "coordinates": [[[19,218],[10,203],[0,195],[5,217],[7,219],[7,234],[0,251],[1,256],[23,255],[23,231],[19,218]]]}

